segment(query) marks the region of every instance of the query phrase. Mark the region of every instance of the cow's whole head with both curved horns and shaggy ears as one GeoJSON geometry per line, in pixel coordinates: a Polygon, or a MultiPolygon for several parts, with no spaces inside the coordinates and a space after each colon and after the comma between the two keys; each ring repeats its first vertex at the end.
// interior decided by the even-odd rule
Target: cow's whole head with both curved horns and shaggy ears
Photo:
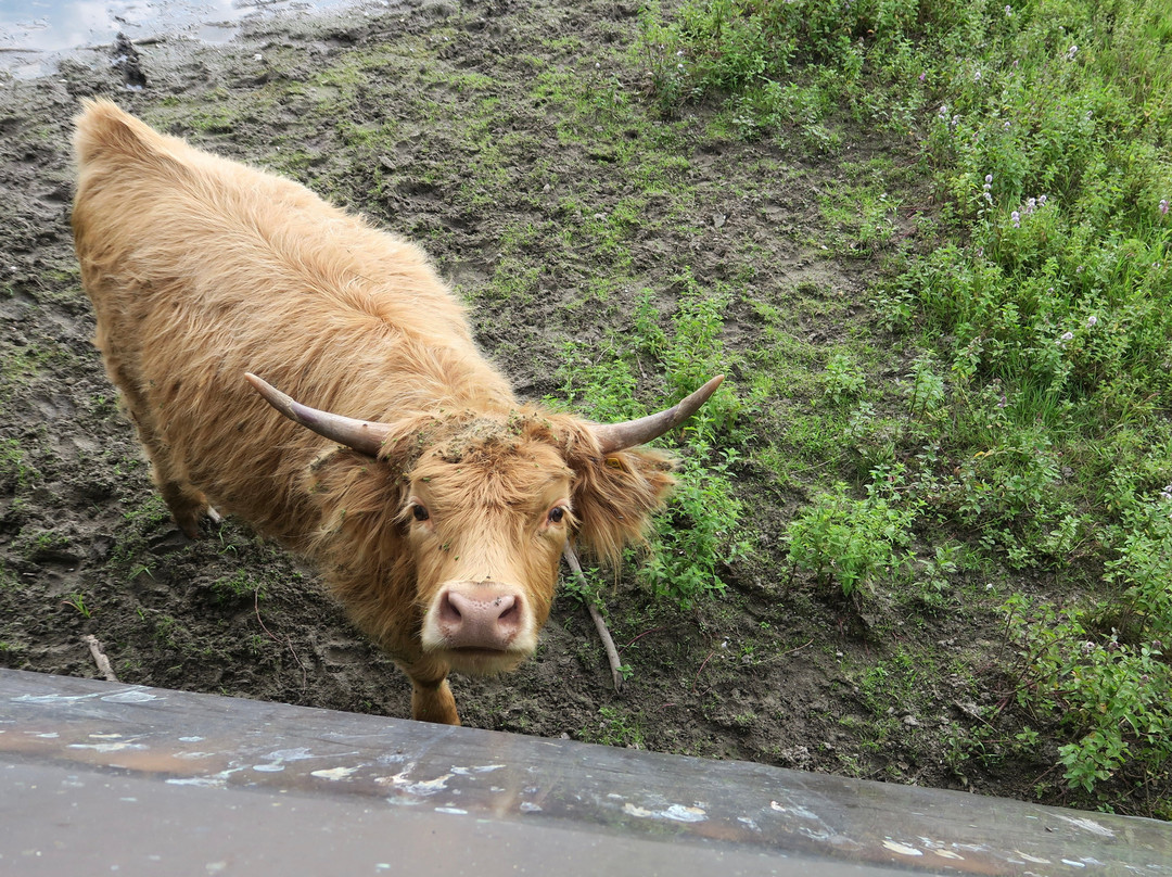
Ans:
{"type": "Polygon", "coordinates": [[[537,647],[571,536],[611,559],[642,538],[672,461],[640,446],[690,417],[722,379],[619,424],[534,407],[373,423],[248,380],[345,448],[316,468],[314,489],[332,507],[323,532],[335,563],[353,556],[354,592],[341,597],[359,624],[401,660],[493,673],[537,647]],[[422,655],[403,653],[408,643],[422,655]]]}

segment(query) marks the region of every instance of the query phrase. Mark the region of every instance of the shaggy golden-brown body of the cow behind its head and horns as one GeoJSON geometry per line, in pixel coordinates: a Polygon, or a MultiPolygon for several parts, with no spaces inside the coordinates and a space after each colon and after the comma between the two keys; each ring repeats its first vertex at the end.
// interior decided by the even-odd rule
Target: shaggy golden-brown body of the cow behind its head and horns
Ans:
{"type": "Polygon", "coordinates": [[[325,442],[245,372],[369,420],[511,402],[414,245],[109,102],[87,103],[75,151],[74,233],[111,378],[225,511],[294,544],[315,523],[297,473],[325,442]]]}

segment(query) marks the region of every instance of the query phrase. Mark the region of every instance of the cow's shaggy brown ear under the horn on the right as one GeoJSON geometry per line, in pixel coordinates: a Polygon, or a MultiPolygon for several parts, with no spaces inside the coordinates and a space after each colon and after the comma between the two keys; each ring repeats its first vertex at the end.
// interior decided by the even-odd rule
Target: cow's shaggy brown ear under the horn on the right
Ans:
{"type": "Polygon", "coordinates": [[[616,562],[625,545],[645,539],[650,514],[675,483],[674,460],[653,448],[633,448],[568,462],[578,476],[573,496],[578,541],[597,557],[616,562]]]}

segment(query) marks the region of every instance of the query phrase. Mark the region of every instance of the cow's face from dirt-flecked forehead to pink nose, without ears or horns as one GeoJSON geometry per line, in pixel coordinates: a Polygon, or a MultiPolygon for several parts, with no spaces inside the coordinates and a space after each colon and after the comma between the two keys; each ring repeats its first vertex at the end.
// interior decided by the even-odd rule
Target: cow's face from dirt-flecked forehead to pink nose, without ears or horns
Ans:
{"type": "Polygon", "coordinates": [[[502,431],[423,454],[400,514],[423,651],[472,673],[533,653],[575,524],[574,473],[545,442],[502,431]]]}

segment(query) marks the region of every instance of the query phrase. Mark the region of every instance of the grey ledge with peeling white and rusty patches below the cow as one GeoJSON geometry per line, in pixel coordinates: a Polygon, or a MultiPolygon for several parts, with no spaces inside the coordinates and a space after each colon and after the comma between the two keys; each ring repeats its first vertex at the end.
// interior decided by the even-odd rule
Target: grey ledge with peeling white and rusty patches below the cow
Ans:
{"type": "Polygon", "coordinates": [[[0,872],[1172,875],[1172,825],[0,671],[0,872]]]}

